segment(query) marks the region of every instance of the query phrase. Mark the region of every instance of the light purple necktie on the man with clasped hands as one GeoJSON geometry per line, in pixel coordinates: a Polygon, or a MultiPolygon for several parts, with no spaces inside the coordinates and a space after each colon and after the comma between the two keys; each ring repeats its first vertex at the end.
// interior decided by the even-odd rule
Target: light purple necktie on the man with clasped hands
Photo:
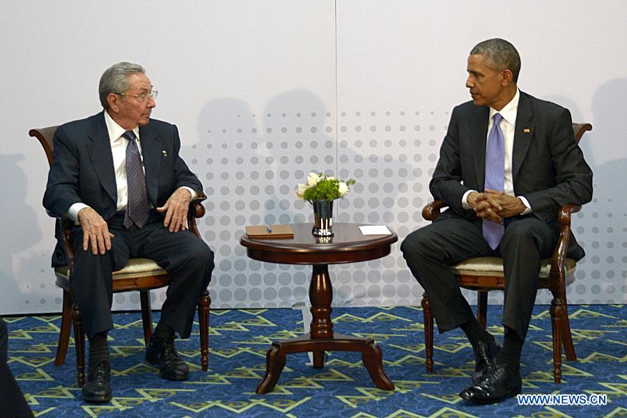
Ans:
{"type": "MultiPolygon", "coordinates": [[[[505,183],[505,137],[499,123],[503,116],[494,114],[493,125],[488,134],[488,147],[486,148],[486,180],[483,189],[503,191],[505,183]]],[[[504,224],[483,219],[483,238],[486,238],[492,249],[496,249],[505,232],[504,224]]]]}

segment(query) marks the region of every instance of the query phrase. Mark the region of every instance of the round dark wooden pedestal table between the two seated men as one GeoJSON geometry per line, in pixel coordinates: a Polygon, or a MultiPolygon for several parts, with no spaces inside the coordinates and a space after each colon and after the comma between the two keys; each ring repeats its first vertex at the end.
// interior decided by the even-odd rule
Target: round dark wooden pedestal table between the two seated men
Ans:
{"type": "Polygon", "coordinates": [[[244,235],[240,244],[247,248],[250,258],[268,263],[311,264],[314,272],[309,284],[311,301],[311,332],[294,339],[272,343],[266,355],[265,376],[256,392],[271,392],[277,385],[286,362],[292,353],[314,353],[314,368],[324,366],[325,351],[359,351],[364,366],[376,387],[394,390],[394,383],[383,371],[382,353],[371,338],[357,338],[333,332],[331,322],[332,286],[330,264],[355,263],[387,256],[391,245],[398,240],[390,235],[362,235],[359,224],[336,223],[334,236],[316,238],[311,234],[313,224],[291,224],[294,238],[288,240],[251,239],[244,235]]]}

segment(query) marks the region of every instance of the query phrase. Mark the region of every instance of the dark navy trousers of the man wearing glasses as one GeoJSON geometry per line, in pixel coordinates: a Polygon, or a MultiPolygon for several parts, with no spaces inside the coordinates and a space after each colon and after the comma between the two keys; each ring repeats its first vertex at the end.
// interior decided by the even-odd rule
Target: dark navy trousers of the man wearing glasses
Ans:
{"type": "Polygon", "coordinates": [[[82,229],[72,230],[76,255],[70,281],[87,337],[113,328],[111,272],[123,268],[129,258],[137,257],[154,260],[170,275],[161,320],[181,338],[189,337],[196,305],[211,279],[213,252],[189,230],[170,233],[157,212],[150,215],[142,229],[135,226],[126,229],[123,222],[123,212],[107,221],[115,237],[111,239],[111,250],[104,255],[93,255],[91,246],[84,251],[82,229]]]}

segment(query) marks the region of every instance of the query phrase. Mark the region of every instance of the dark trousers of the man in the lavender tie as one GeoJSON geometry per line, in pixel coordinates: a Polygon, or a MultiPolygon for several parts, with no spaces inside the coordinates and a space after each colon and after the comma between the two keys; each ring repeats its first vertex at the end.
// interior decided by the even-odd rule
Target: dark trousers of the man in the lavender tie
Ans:
{"type": "Polygon", "coordinates": [[[433,224],[410,233],[401,245],[405,261],[424,288],[438,330],[452,330],[474,318],[450,266],[474,257],[502,257],[505,274],[502,324],[525,339],[538,290],[542,258],[551,256],[557,222],[533,216],[507,219],[500,246],[493,250],[481,233],[481,222],[445,212],[433,224]]]}

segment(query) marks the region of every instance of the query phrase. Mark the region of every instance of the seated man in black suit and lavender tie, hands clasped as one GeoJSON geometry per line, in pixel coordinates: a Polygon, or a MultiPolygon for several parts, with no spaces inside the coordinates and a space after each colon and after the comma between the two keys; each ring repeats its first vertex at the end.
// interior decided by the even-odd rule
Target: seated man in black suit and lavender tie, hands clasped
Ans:
{"type": "MultiPolygon", "coordinates": [[[[502,39],[480,42],[467,62],[472,102],[453,109],[433,178],[449,209],[405,238],[401,251],[431,303],[440,332],[461,327],[474,350],[474,385],[460,393],[494,403],[520,393],[520,353],[541,258],[559,238],[557,210],[592,196],[592,172],[573,137],[571,114],[516,86],[520,56],[502,39]],[[504,260],[504,343],[483,330],[450,266],[467,258],[504,260]]],[[[584,253],[574,238],[568,256],[584,253]]]]}

